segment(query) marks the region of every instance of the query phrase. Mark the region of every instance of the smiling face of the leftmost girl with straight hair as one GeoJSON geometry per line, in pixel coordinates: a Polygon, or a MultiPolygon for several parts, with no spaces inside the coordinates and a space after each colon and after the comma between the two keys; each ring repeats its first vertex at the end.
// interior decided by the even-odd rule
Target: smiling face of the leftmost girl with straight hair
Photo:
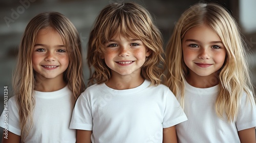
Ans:
{"type": "Polygon", "coordinates": [[[59,33],[51,27],[39,30],[32,54],[32,65],[38,76],[63,81],[69,56],[59,33]]]}

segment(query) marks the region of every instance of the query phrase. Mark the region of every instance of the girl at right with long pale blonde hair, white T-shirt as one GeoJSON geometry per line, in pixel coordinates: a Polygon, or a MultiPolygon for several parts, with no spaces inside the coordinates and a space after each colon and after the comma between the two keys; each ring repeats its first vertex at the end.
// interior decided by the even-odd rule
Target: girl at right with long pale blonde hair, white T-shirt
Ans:
{"type": "Polygon", "coordinates": [[[218,4],[199,3],[180,17],[166,47],[166,85],[188,120],[179,142],[255,142],[256,106],[246,44],[218,4]]]}

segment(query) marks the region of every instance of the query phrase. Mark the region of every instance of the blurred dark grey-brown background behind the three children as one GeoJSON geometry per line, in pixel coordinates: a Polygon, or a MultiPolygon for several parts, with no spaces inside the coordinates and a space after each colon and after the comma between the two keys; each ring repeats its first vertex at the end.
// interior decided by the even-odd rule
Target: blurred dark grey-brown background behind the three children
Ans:
{"type": "Polygon", "coordinates": [[[74,23],[82,41],[83,73],[84,80],[87,82],[89,70],[86,55],[89,32],[100,10],[115,2],[136,2],[150,11],[154,17],[154,22],[163,34],[165,45],[181,13],[191,5],[199,2],[215,2],[223,5],[237,19],[246,38],[245,41],[252,52],[249,64],[252,81],[256,85],[256,65],[254,63],[256,61],[255,0],[2,0],[0,1],[0,89],[2,89],[0,91],[0,113],[4,109],[4,86],[8,86],[9,98],[13,96],[11,79],[16,65],[18,45],[31,18],[40,12],[57,11],[66,15],[74,23]]]}

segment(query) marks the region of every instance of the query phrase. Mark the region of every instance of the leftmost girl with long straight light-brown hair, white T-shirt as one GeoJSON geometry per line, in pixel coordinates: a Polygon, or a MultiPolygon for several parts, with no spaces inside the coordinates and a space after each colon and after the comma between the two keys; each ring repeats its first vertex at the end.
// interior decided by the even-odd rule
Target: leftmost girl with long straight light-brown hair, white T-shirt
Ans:
{"type": "MultiPolygon", "coordinates": [[[[81,43],[71,21],[58,12],[36,15],[19,45],[3,142],[76,142],[69,129],[76,98],[85,89],[81,43]]],[[[4,112],[0,125],[4,125],[4,112]]]]}

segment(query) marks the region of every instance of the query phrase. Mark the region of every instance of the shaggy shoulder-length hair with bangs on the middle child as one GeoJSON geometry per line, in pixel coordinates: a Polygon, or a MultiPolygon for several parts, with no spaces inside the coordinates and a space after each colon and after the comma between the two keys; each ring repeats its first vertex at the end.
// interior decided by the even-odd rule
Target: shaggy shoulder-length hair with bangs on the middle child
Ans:
{"type": "Polygon", "coordinates": [[[104,43],[115,34],[139,38],[152,54],[142,66],[141,76],[158,85],[163,74],[163,41],[159,29],[154,25],[150,13],[135,3],[113,3],[101,10],[90,33],[88,43],[88,64],[91,71],[89,85],[103,83],[110,79],[111,71],[101,55],[104,43]],[[92,73],[92,69],[94,72],[92,73]]]}

